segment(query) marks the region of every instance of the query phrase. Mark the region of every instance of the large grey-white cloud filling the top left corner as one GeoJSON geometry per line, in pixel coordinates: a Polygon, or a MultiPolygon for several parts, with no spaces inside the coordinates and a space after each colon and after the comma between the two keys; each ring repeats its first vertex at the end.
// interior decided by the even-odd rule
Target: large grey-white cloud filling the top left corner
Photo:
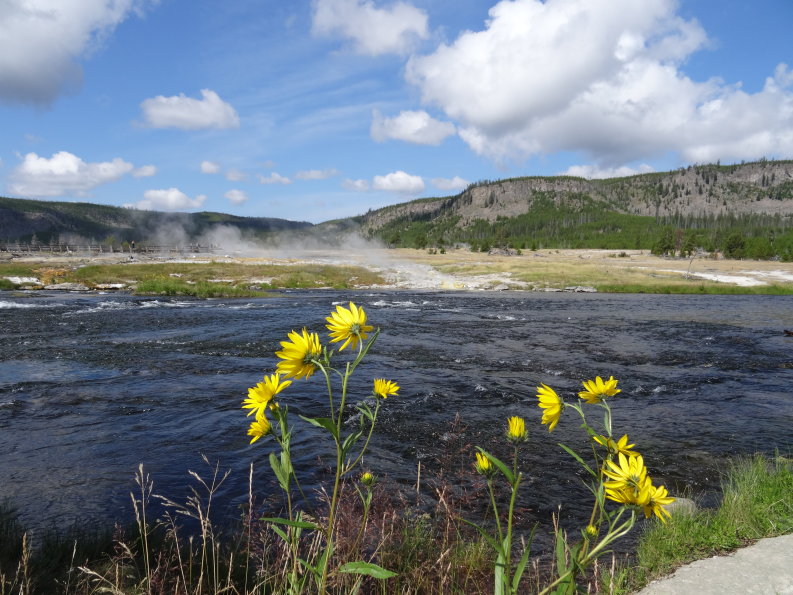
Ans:
{"type": "Polygon", "coordinates": [[[2,0],[0,101],[47,106],[75,91],[83,78],[78,60],[101,46],[145,0],[2,0]]]}

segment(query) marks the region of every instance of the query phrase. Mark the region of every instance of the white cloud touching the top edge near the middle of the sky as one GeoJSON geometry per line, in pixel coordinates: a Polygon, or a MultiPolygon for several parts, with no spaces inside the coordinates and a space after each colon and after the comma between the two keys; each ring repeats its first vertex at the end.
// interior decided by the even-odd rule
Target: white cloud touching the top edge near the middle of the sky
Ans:
{"type": "Polygon", "coordinates": [[[360,54],[406,54],[426,39],[427,14],[406,2],[377,8],[371,0],[317,0],[315,35],[350,39],[360,54]]]}

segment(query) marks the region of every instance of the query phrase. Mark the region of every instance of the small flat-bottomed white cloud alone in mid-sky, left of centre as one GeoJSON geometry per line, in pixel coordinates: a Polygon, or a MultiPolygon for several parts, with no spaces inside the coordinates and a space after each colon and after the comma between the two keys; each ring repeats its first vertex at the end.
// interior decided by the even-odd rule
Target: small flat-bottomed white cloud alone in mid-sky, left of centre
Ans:
{"type": "Polygon", "coordinates": [[[223,101],[217,93],[201,89],[202,99],[185,97],[184,93],[172,97],[157,95],[141,102],[143,117],[153,128],[239,128],[236,110],[223,101]]]}

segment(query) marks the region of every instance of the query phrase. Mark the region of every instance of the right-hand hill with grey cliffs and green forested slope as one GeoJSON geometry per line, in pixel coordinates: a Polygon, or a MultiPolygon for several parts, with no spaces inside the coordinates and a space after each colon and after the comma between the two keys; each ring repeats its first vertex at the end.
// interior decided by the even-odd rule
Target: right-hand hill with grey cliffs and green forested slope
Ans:
{"type": "Polygon", "coordinates": [[[793,259],[793,161],[603,180],[484,181],[456,196],[370,211],[362,228],[390,245],[419,248],[702,248],[793,259]]]}

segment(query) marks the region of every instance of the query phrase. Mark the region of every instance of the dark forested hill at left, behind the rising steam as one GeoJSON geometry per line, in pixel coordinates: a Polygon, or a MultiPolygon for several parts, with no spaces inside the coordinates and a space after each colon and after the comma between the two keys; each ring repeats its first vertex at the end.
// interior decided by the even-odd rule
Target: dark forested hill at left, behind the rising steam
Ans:
{"type": "Polygon", "coordinates": [[[0,242],[41,243],[136,240],[173,244],[201,237],[218,226],[236,227],[246,235],[310,228],[310,223],[223,213],[162,213],[91,203],[50,202],[0,197],[0,242]],[[35,236],[35,238],[34,238],[35,236]]]}

